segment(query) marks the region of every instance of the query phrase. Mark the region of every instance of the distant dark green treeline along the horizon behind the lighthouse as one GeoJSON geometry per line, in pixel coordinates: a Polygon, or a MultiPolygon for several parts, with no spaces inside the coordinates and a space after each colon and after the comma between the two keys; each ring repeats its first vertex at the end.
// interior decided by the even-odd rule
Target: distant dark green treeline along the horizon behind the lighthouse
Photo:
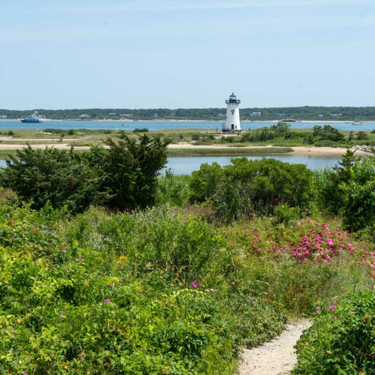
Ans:
{"type": "MultiPolygon", "coordinates": [[[[221,120],[224,118],[226,108],[153,108],[153,109],[122,109],[122,108],[91,108],[91,109],[30,109],[7,110],[0,109],[0,116],[6,115],[8,119],[24,118],[37,110],[38,115],[48,119],[64,120],[79,119],[121,119],[129,117],[139,120],[154,118],[186,119],[186,120],[221,120]],[[129,116],[130,115],[130,116],[129,116]]],[[[296,120],[339,120],[350,121],[355,118],[362,121],[375,121],[374,107],[272,107],[272,108],[240,108],[241,119],[249,120],[281,120],[293,118],[296,120]],[[261,114],[259,115],[260,112],[261,114]]]]}

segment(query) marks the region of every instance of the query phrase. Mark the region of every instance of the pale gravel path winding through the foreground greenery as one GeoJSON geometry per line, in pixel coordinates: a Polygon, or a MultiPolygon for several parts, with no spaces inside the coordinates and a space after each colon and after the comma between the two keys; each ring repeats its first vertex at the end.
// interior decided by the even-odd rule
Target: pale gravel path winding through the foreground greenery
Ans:
{"type": "Polygon", "coordinates": [[[311,326],[307,320],[288,324],[280,336],[258,348],[244,349],[240,375],[289,374],[297,363],[293,346],[302,331],[311,326]]]}

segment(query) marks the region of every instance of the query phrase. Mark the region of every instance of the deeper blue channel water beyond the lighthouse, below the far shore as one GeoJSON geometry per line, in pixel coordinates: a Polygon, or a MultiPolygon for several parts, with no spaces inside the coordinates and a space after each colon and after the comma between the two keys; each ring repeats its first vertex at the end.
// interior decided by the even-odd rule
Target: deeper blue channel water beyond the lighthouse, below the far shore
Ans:
{"type": "MultiPolygon", "coordinates": [[[[23,124],[20,120],[0,120],[0,129],[122,129],[133,130],[136,127],[146,127],[148,130],[164,129],[209,129],[221,130],[222,121],[44,121],[41,124],[23,124]]],[[[242,122],[245,130],[256,129],[264,126],[274,125],[274,122],[242,122]]],[[[363,125],[352,125],[345,123],[292,123],[292,128],[308,129],[314,125],[332,125],[340,130],[373,130],[375,123],[363,123],[363,125]]]]}

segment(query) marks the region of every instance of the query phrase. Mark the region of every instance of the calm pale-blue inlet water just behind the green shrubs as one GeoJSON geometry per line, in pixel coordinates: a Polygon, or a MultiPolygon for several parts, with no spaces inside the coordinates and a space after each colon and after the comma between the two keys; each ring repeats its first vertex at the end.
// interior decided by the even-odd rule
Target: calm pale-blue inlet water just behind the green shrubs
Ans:
{"type": "MultiPolygon", "coordinates": [[[[167,167],[163,170],[169,169],[174,174],[191,174],[193,170],[198,170],[201,164],[211,164],[216,162],[221,166],[230,164],[233,156],[181,156],[168,158],[167,167]]],[[[256,159],[276,159],[285,163],[304,164],[310,169],[322,169],[325,167],[333,167],[337,164],[340,157],[333,156],[301,156],[301,155],[267,155],[267,156],[247,156],[249,160],[256,159]]],[[[0,160],[0,167],[6,167],[5,160],[0,160]]]]}

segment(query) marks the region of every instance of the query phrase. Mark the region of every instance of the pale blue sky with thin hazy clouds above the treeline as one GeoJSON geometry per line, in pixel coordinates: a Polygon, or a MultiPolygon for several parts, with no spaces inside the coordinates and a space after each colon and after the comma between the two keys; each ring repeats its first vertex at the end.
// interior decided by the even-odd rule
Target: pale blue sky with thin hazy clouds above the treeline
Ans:
{"type": "Polygon", "coordinates": [[[375,0],[0,0],[0,108],[375,105],[375,0]]]}

